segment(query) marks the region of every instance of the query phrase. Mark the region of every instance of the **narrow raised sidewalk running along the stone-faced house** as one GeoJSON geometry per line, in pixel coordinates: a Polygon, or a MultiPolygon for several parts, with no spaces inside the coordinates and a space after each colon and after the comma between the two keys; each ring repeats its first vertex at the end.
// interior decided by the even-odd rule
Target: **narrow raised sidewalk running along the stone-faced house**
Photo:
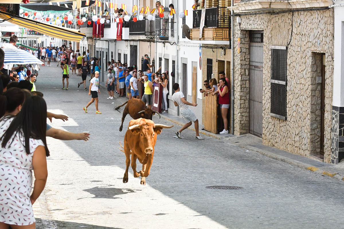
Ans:
{"type": "MultiPolygon", "coordinates": [[[[180,126],[183,126],[185,122],[182,118],[171,115],[171,114],[161,114],[161,116],[175,124],[178,124],[180,126]]],[[[190,126],[189,129],[195,131],[194,125],[190,126]]],[[[213,134],[211,132],[208,132],[206,130],[199,130],[200,134],[213,137],[219,140],[223,140],[227,144],[230,144],[232,146],[238,146],[244,149],[247,149],[247,152],[252,151],[256,153],[263,154],[267,157],[287,162],[289,164],[295,165],[302,169],[307,169],[312,172],[321,174],[322,176],[330,176],[332,178],[344,181],[344,164],[340,164],[338,166],[324,163],[321,161],[318,161],[316,159],[311,159],[307,157],[303,157],[297,154],[293,154],[284,150],[279,150],[274,147],[265,146],[261,144],[261,138],[251,135],[251,134],[245,134],[245,135],[219,135],[219,134],[213,134]]],[[[319,159],[320,160],[320,159],[319,159]]]]}

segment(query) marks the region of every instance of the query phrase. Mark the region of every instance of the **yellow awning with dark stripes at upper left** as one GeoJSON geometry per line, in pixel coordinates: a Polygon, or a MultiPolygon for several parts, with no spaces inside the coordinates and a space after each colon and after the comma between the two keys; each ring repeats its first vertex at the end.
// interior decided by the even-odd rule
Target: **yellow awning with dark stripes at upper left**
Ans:
{"type": "Polygon", "coordinates": [[[86,36],[84,33],[80,33],[78,30],[73,30],[71,28],[64,28],[55,25],[48,25],[42,22],[22,18],[20,16],[6,13],[3,11],[0,11],[0,18],[3,20],[7,20],[8,22],[11,22],[13,24],[22,26],[24,28],[29,28],[36,32],[40,32],[52,37],[61,38],[67,41],[79,42],[84,36],[86,36]]]}

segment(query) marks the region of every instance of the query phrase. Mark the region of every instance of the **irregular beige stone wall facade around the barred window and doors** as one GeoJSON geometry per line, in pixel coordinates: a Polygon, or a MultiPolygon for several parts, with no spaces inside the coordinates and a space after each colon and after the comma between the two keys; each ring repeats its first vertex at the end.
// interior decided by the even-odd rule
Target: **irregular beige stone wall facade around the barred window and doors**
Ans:
{"type": "MultiPolygon", "coordinates": [[[[235,23],[235,134],[248,133],[249,31],[264,31],[262,142],[303,156],[311,152],[312,55],[324,54],[324,161],[330,162],[333,93],[333,9],[241,15],[235,23]],[[237,40],[240,37],[240,53],[237,40]],[[317,41],[319,40],[319,42],[317,41]],[[319,44],[319,45],[318,45],[319,44]],[[271,45],[287,46],[287,120],[270,113],[271,45]],[[245,105],[241,105],[245,104],[245,105]],[[246,106],[247,105],[247,106],[246,106]]],[[[314,91],[314,87],[313,87],[314,91]]],[[[313,132],[312,132],[313,133],[313,132]]],[[[312,138],[313,139],[313,138],[312,138]]]]}

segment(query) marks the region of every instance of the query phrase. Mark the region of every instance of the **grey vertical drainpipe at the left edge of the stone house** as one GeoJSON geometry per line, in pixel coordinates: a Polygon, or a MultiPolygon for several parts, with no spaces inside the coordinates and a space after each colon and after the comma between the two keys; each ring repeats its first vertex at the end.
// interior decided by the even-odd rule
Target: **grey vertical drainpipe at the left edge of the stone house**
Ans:
{"type": "MultiPolygon", "coordinates": [[[[233,1],[230,2],[230,6],[233,7],[233,1]]],[[[231,39],[230,39],[230,47],[232,48],[232,57],[230,60],[230,75],[232,76],[231,78],[231,92],[230,92],[230,96],[232,97],[232,101],[231,104],[232,106],[230,106],[230,117],[231,117],[231,122],[230,122],[230,132],[231,134],[234,134],[234,16],[233,16],[233,8],[230,9],[230,14],[232,15],[232,18],[230,20],[230,34],[231,34],[231,39]]]]}

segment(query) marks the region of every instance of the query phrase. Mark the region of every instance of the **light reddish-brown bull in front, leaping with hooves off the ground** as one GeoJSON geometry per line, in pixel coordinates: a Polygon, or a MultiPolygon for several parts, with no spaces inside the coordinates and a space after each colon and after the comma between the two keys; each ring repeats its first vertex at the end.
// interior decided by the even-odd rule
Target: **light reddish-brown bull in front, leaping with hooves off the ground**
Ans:
{"type": "Polygon", "coordinates": [[[140,184],[146,184],[146,177],[149,175],[153,163],[157,135],[161,133],[163,128],[172,128],[173,126],[154,124],[153,121],[144,118],[133,119],[129,122],[128,130],[124,137],[124,150],[122,150],[126,154],[127,166],[123,176],[123,183],[128,182],[131,154],[131,168],[134,177],[141,176],[140,184]],[[136,159],[139,159],[142,164],[142,170],[140,172],[136,171],[136,159]]]}

